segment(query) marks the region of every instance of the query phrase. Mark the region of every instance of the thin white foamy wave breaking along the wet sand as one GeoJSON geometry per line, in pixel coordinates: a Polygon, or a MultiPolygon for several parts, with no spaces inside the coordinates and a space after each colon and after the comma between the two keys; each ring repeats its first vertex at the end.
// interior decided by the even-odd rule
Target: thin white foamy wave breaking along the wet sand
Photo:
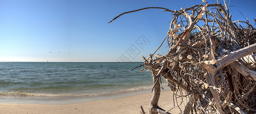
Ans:
{"type": "Polygon", "coordinates": [[[89,97],[89,96],[101,96],[111,95],[124,92],[135,92],[141,90],[152,89],[152,86],[134,87],[130,89],[116,90],[111,92],[99,92],[99,93],[27,93],[27,92],[0,92],[0,96],[16,96],[16,97],[89,97]]]}

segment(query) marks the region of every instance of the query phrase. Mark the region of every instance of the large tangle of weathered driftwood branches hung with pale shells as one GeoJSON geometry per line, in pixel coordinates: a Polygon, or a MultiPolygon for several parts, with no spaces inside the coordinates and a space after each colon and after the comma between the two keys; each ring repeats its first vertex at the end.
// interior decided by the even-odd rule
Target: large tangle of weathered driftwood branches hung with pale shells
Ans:
{"type": "Polygon", "coordinates": [[[161,79],[168,82],[174,98],[189,98],[181,113],[256,113],[255,24],[247,19],[232,22],[225,0],[224,5],[203,0],[201,5],[179,11],[159,9],[173,14],[163,40],[168,41],[170,51],[154,55],[158,48],[143,57],[141,71],[151,71],[154,83],[149,113],[171,112],[158,106],[161,79]]]}

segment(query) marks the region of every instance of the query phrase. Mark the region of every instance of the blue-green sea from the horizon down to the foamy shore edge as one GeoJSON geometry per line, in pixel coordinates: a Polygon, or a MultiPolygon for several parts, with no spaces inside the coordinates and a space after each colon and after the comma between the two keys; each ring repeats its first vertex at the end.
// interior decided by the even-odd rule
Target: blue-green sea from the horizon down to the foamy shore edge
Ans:
{"type": "Polygon", "coordinates": [[[142,62],[0,62],[0,96],[98,96],[152,88],[142,62]]]}

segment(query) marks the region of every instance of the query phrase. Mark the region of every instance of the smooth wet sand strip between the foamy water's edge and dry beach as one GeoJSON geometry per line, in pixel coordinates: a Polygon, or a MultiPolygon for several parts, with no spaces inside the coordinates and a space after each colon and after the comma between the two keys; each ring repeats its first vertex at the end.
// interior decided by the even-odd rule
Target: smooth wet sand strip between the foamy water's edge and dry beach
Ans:
{"type": "MultiPolygon", "coordinates": [[[[165,89],[162,92],[168,91],[168,86],[163,86],[165,89]]],[[[35,96],[0,96],[0,103],[7,104],[47,104],[47,105],[55,105],[55,104],[74,104],[80,102],[88,102],[93,100],[108,100],[114,98],[123,98],[130,97],[134,95],[151,93],[151,89],[145,90],[135,90],[121,93],[113,93],[107,95],[98,95],[98,96],[70,96],[70,97],[35,97],[35,96]]]]}

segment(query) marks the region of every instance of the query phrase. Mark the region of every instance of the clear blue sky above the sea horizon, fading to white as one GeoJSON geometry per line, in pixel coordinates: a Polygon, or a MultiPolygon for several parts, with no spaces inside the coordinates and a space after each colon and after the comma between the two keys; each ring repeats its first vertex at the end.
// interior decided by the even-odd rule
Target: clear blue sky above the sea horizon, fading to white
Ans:
{"type": "MultiPolygon", "coordinates": [[[[171,13],[146,9],[108,22],[127,11],[179,10],[183,3],[202,0],[0,0],[0,62],[142,62],[167,35],[171,13]]],[[[243,13],[252,22],[255,4],[230,0],[233,21],[246,21],[243,13]]],[[[166,46],[156,54],[166,54],[166,46]]]]}

